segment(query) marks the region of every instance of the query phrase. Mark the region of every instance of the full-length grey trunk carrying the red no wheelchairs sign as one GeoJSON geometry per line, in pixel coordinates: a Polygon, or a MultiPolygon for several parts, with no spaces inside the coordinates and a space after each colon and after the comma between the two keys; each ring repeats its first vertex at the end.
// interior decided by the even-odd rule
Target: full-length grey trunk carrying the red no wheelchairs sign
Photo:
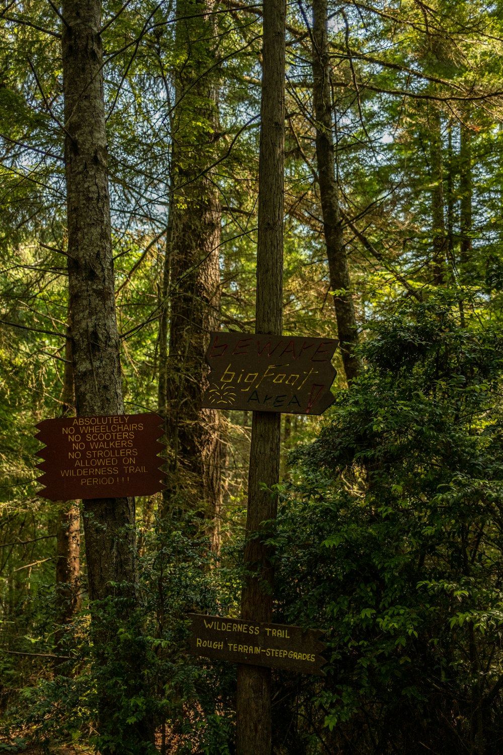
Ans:
{"type": "MultiPolygon", "coordinates": [[[[72,360],[78,416],[121,414],[119,337],[115,318],[114,269],[103,100],[103,50],[100,0],[63,0],[63,94],[65,114],[66,204],[68,220],[69,304],[72,313],[72,360]]],[[[153,741],[145,717],[120,724],[121,696],[143,690],[141,643],[121,646],[121,684],[106,680],[100,666],[118,653],[109,643],[121,622],[136,609],[137,572],[133,498],[94,499],[84,504],[89,595],[110,604],[92,610],[97,654],[100,734],[109,737],[102,755],[117,738],[124,753],[153,741]]],[[[114,667],[115,673],[116,665],[114,667]]],[[[114,750],[115,751],[115,750],[114,750]]],[[[138,751],[137,749],[134,751],[138,751]]]]}

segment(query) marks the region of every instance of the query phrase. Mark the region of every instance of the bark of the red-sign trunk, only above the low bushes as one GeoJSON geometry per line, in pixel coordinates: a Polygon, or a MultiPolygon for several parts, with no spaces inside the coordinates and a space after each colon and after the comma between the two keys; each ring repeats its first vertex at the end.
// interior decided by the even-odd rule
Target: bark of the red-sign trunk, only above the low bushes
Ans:
{"type": "MultiPolygon", "coordinates": [[[[72,359],[78,416],[122,414],[103,101],[100,0],[63,3],[66,203],[72,359]]],[[[131,498],[86,501],[91,599],[136,582],[131,498]],[[118,529],[127,532],[118,536],[118,529]]]]}

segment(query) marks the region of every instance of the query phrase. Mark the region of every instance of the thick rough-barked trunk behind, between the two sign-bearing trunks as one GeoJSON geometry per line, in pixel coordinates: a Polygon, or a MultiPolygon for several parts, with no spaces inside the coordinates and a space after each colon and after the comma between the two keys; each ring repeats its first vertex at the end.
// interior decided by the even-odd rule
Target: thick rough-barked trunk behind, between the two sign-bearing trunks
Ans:
{"type": "Polygon", "coordinates": [[[170,214],[170,334],[167,372],[167,491],[209,523],[219,547],[222,442],[219,414],[201,408],[209,331],[219,329],[218,190],[211,176],[218,137],[218,79],[214,72],[215,16],[199,0],[178,0],[173,113],[173,196],[170,214]],[[207,15],[205,15],[207,14],[207,15]],[[194,112],[199,125],[194,124],[194,112]]]}

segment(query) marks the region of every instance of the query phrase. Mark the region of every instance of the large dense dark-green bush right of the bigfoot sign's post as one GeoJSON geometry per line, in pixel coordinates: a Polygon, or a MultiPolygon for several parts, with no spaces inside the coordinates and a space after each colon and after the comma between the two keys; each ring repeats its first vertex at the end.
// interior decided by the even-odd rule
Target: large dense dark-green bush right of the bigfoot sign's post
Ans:
{"type": "Polygon", "coordinates": [[[449,304],[372,325],[280,488],[278,612],[327,633],[302,705],[333,752],[501,750],[503,344],[449,304]]]}

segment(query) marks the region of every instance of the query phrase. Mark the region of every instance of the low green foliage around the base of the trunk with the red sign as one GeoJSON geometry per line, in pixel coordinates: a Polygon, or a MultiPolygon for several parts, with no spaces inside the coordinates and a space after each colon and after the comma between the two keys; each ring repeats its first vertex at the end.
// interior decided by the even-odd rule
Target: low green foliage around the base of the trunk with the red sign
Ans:
{"type": "MultiPolygon", "coordinates": [[[[173,525],[155,522],[142,543],[140,584],[117,584],[112,586],[117,596],[86,605],[61,627],[57,649],[51,647],[54,584],[45,584],[45,609],[39,609],[39,635],[30,651],[52,650],[59,661],[52,673],[54,661],[46,661],[38,683],[28,683],[28,672],[20,695],[6,701],[5,741],[14,742],[18,732],[20,748],[31,743],[49,752],[66,743],[146,755],[158,750],[138,731],[145,725],[148,732],[153,720],[161,752],[189,755],[198,746],[209,755],[227,753],[235,670],[228,664],[212,667],[187,652],[187,613],[215,613],[222,601],[235,602],[235,588],[222,586],[213,574],[207,545],[207,538],[195,536],[190,516],[173,525]],[[129,599],[124,598],[127,593],[129,599]],[[98,731],[103,706],[115,714],[112,720],[106,716],[107,726],[98,731]]],[[[16,660],[5,662],[5,681],[19,678],[16,665],[16,660]]]]}

